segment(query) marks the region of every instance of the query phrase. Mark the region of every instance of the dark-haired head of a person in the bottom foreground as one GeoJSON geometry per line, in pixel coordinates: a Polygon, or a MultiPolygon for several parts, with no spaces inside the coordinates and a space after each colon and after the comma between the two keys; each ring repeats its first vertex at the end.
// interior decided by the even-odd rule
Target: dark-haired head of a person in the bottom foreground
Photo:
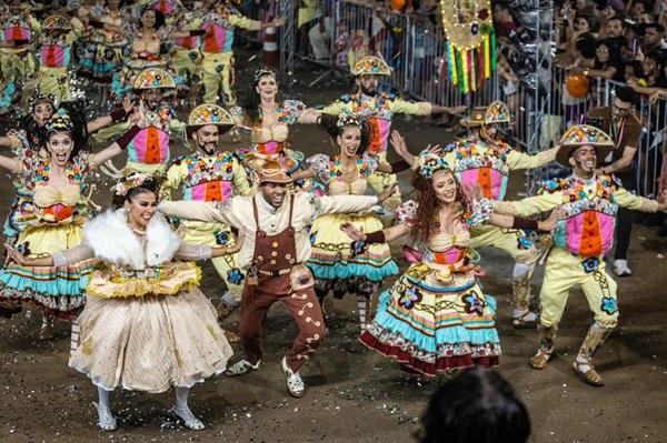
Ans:
{"type": "Polygon", "coordinates": [[[524,403],[492,370],[470,369],[444,384],[421,417],[420,443],[526,443],[524,403]]]}

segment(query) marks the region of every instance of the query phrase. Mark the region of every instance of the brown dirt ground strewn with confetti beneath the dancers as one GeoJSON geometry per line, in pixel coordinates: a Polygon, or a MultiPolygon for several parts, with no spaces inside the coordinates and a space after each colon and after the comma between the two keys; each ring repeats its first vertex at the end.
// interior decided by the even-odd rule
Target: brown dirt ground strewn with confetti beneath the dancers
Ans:
{"type": "MultiPolygon", "coordinates": [[[[250,67],[257,63],[251,61],[250,67]]],[[[242,64],[242,63],[239,63],[242,64]]],[[[248,78],[250,68],[239,72],[248,78]]],[[[287,89],[289,98],[323,104],[348,85],[305,84],[317,71],[302,67],[302,81],[287,89]]],[[[427,142],[442,142],[451,134],[427,120],[396,119],[412,151],[427,142]]],[[[307,154],[329,152],[323,132],[313,127],[296,128],[293,148],[307,154]]],[[[120,162],[118,162],[120,164],[120,162]]],[[[404,193],[409,177],[400,175],[404,193]]],[[[514,178],[520,191],[521,174],[514,178]]],[[[101,185],[100,189],[108,189],[101,185]]],[[[12,195],[7,177],[0,178],[0,208],[12,195]]],[[[106,192],[94,200],[106,203],[106,192]]],[[[3,217],[4,212],[0,211],[3,217]]],[[[667,442],[667,303],[665,271],[667,240],[655,228],[636,226],[630,260],[635,274],[619,279],[621,319],[618,329],[597,356],[597,368],[607,385],[591,387],[575,377],[571,362],[591,314],[580,291],[571,293],[557,338],[557,358],[544,371],[527,365],[537,345],[536,331],[516,331],[510,325],[511,261],[492,250],[482,250],[487,293],[499,302],[498,329],[504,356],[498,371],[526,402],[532,422],[531,442],[606,443],[667,442]]],[[[400,256],[397,248],[395,256],[400,256]]],[[[400,262],[406,268],[405,261],[400,262]]],[[[223,292],[210,265],[205,265],[202,290],[217,299],[223,292]]],[[[541,272],[534,282],[539,290],[541,272]]],[[[388,286],[391,282],[386,282],[388,286]]],[[[102,433],[96,426],[92,404],[96,390],[87,377],[68,369],[69,328],[59,324],[57,336],[37,338],[39,315],[22,313],[0,320],[0,441],[2,442],[410,442],[429,396],[444,381],[420,382],[399,371],[391,361],[366,351],[357,342],[355,300],[336,301],[330,333],[302,375],[308,393],[290,397],[279,361],[296,334],[280,306],[271,311],[265,326],[266,360],[260,371],[239,379],[212,377],[192,390],[190,406],[207,427],[188,431],[167,414],[172,393],[112,394],[119,429],[102,433]]],[[[237,321],[235,314],[231,322],[237,321]]],[[[239,348],[237,356],[241,355],[239,348]]]]}

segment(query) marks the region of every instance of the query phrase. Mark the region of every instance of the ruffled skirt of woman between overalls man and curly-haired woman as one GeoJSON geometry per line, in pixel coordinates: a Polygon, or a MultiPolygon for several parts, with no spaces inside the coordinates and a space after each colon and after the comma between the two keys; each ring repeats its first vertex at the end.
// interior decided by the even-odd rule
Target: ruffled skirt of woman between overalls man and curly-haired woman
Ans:
{"type": "MultiPolygon", "coordinates": [[[[352,280],[358,284],[364,284],[364,281],[379,283],[398,274],[398,266],[391,260],[391,251],[387,243],[368,244],[364,252],[352,254],[352,242],[340,230],[342,223],[351,223],[367,233],[382,229],[382,223],[372,214],[327,214],[318,218],[310,229],[312,253],[308,260],[308,268],[320,285],[322,280],[352,280]]],[[[350,292],[357,292],[347,286],[350,292]]],[[[344,295],[336,291],[335,294],[344,295]]]]}

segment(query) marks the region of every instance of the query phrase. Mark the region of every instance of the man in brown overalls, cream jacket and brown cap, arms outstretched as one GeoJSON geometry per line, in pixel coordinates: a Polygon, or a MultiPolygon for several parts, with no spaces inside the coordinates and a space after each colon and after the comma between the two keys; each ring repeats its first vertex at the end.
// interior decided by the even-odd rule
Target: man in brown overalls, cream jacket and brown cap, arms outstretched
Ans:
{"type": "Polygon", "coordinates": [[[262,322],[269,308],[280,301],[299,326],[299,335],[280,363],[287,390],[299,397],[306,391],[299,370],[325,336],[322,311],[306,266],[310,256],[308,226],[323,214],[368,210],[387,199],[394,187],[377,197],[316,197],[288,191],[290,183],[287,172],[271,161],[258,173],[259,192],[255,197],[235,197],[221,204],[162,202],[160,209],[181,219],[219,222],[245,231],[238,264],[247,271],[240,325],[246,359],[227,374],[237,376],[259,369],[262,322]]]}

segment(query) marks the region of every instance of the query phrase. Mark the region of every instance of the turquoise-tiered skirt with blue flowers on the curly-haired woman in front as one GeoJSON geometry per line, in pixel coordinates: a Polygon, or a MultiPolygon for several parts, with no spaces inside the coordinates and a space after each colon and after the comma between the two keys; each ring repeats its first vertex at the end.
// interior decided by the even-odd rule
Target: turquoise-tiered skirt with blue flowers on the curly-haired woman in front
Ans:
{"type": "Polygon", "coordinates": [[[472,273],[449,274],[412,264],[380,296],[359,340],[425,375],[498,364],[496,301],[472,273]]]}

